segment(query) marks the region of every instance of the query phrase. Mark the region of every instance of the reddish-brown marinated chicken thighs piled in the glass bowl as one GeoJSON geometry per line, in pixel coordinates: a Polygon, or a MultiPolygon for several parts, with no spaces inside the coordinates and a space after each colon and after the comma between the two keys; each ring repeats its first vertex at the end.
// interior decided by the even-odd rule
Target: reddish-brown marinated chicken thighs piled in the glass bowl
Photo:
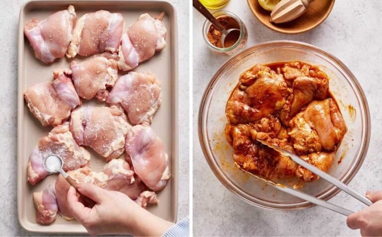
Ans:
{"type": "Polygon", "coordinates": [[[235,164],[269,180],[312,182],[319,177],[267,144],[327,172],[347,131],[327,75],[298,61],[257,64],[242,73],[226,116],[225,137],[235,164]]]}

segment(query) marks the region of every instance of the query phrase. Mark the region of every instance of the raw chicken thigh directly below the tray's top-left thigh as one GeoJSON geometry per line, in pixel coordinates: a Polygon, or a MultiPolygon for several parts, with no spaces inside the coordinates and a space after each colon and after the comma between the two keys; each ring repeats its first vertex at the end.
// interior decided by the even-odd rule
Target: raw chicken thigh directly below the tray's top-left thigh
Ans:
{"type": "Polygon", "coordinates": [[[71,110],[81,105],[67,71],[54,72],[53,82],[36,84],[24,92],[30,112],[43,126],[58,125],[66,121],[71,110]]]}

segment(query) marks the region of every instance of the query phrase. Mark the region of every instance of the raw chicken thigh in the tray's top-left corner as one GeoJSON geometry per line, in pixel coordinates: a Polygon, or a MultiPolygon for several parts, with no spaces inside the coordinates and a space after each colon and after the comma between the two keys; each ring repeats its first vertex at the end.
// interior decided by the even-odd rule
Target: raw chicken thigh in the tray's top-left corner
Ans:
{"type": "Polygon", "coordinates": [[[24,27],[24,34],[34,50],[36,58],[43,63],[52,63],[65,56],[72,40],[76,22],[74,6],[57,11],[42,21],[32,19],[24,27]]]}

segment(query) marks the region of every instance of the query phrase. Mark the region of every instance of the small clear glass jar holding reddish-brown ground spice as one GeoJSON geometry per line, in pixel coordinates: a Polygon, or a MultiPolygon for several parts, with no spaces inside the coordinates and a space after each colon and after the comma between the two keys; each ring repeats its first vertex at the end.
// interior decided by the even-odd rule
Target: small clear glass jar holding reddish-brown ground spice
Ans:
{"type": "MultiPolygon", "coordinates": [[[[212,52],[214,52],[215,54],[223,55],[223,56],[234,55],[237,52],[239,52],[241,49],[243,49],[246,42],[247,42],[248,32],[247,32],[247,28],[245,27],[244,23],[240,20],[240,18],[237,15],[233,14],[232,12],[224,11],[224,10],[216,11],[212,14],[218,20],[220,17],[224,17],[224,16],[228,16],[228,17],[231,17],[232,19],[234,19],[237,22],[237,24],[235,24],[235,25],[237,25],[237,27],[235,27],[235,28],[238,28],[240,30],[240,33],[238,34],[237,41],[234,44],[232,44],[231,46],[229,46],[229,47],[218,47],[218,45],[216,45],[216,43],[215,44],[212,43],[210,38],[208,38],[208,36],[211,36],[211,34],[208,34],[208,32],[210,31],[211,26],[212,27],[214,27],[214,26],[211,24],[211,22],[206,20],[203,24],[203,32],[202,33],[203,33],[204,41],[207,43],[208,48],[212,52]]],[[[222,22],[220,22],[220,23],[222,23],[222,22]]],[[[228,29],[228,28],[226,28],[226,29],[228,29]]]]}

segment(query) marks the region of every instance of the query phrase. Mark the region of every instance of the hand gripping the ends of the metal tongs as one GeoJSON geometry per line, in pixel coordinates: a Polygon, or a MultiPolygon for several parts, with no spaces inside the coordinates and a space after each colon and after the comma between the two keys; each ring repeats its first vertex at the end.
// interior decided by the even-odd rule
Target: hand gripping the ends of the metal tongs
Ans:
{"type": "Polygon", "coordinates": [[[346,223],[350,229],[361,230],[362,236],[382,236],[382,191],[367,192],[374,204],[350,215],[346,223]]]}

